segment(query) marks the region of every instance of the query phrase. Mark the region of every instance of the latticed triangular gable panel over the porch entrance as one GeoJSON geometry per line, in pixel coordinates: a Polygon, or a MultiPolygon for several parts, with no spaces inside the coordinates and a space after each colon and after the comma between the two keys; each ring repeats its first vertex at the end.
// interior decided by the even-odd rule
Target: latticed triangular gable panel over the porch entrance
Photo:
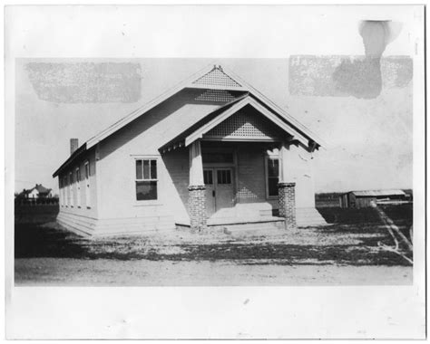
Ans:
{"type": "Polygon", "coordinates": [[[206,138],[275,139],[281,137],[279,128],[255,113],[240,111],[224,120],[205,135],[206,138]]]}

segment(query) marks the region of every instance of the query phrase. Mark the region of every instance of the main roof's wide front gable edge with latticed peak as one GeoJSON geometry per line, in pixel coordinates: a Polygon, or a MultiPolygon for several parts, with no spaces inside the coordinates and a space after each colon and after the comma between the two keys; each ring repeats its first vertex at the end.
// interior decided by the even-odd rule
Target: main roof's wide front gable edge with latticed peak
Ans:
{"type": "MultiPolygon", "coordinates": [[[[268,108],[271,110],[271,112],[276,113],[277,116],[282,117],[284,121],[288,122],[290,129],[294,129],[294,132],[297,133],[298,137],[306,138],[308,142],[314,143],[317,147],[325,145],[322,139],[318,138],[317,135],[298,122],[297,119],[294,119],[285,110],[279,108],[278,105],[253,88],[246,81],[241,80],[239,76],[222,68],[221,66],[210,65],[200,70],[200,72],[192,74],[187,80],[182,81],[178,85],[172,87],[170,90],[163,92],[159,97],[151,100],[139,109],[132,111],[132,113],[116,121],[111,126],[95,135],[93,138],[88,139],[80,148],[77,149],[77,151],[75,151],[71,157],[69,157],[64,162],[64,164],[62,164],[61,167],[59,167],[54,172],[53,177],[56,177],[61,172],[61,170],[64,169],[64,167],[68,166],[75,158],[81,155],[83,151],[93,148],[95,145],[97,145],[97,143],[101,142],[103,139],[108,138],[115,131],[122,129],[134,119],[139,118],[147,111],[161,104],[161,102],[164,100],[168,100],[174,94],[187,88],[248,92],[255,100],[259,100],[260,105],[268,108]]],[[[224,105],[221,105],[220,108],[223,106],[224,105]]]]}

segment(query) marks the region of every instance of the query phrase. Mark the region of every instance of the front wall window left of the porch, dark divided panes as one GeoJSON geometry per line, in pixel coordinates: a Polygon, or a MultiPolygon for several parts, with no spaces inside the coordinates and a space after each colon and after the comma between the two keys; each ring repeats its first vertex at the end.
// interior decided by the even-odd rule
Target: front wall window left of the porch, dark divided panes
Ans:
{"type": "Polygon", "coordinates": [[[136,199],[138,201],[157,199],[157,160],[136,160],[136,199]]]}

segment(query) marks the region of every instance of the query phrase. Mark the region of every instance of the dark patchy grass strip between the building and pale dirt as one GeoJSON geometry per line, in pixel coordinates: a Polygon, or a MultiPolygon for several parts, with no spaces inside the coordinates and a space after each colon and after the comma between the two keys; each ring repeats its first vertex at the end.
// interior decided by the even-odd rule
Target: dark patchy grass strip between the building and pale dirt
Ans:
{"type": "MultiPolygon", "coordinates": [[[[383,229],[370,225],[332,225],[313,232],[321,244],[286,244],[279,241],[253,240],[224,243],[192,244],[191,242],[154,243],[147,237],[86,239],[61,229],[58,225],[16,225],[15,258],[54,257],[78,259],[112,259],[151,261],[218,261],[264,264],[297,264],[305,261],[349,265],[407,265],[396,253],[378,250],[377,242],[392,244],[383,229]],[[358,235],[359,244],[336,243],[336,237],[358,235]],[[378,235],[368,235],[378,234],[378,235]],[[323,242],[330,239],[327,244],[323,242]]],[[[286,234],[288,235],[288,234],[286,234]]],[[[305,234],[308,235],[308,234],[305,234]]],[[[310,235],[310,234],[309,234],[310,235]]],[[[308,242],[305,240],[305,242],[308,242]]],[[[310,263],[311,264],[311,263],[310,263]]]]}

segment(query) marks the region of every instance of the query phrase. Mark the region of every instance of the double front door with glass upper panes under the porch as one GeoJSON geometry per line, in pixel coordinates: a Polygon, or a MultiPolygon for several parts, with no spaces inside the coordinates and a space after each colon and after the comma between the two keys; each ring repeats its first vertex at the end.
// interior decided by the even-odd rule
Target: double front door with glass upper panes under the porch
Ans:
{"type": "Polygon", "coordinates": [[[232,168],[203,168],[206,186],[206,211],[208,216],[222,208],[234,205],[234,181],[232,168]]]}

